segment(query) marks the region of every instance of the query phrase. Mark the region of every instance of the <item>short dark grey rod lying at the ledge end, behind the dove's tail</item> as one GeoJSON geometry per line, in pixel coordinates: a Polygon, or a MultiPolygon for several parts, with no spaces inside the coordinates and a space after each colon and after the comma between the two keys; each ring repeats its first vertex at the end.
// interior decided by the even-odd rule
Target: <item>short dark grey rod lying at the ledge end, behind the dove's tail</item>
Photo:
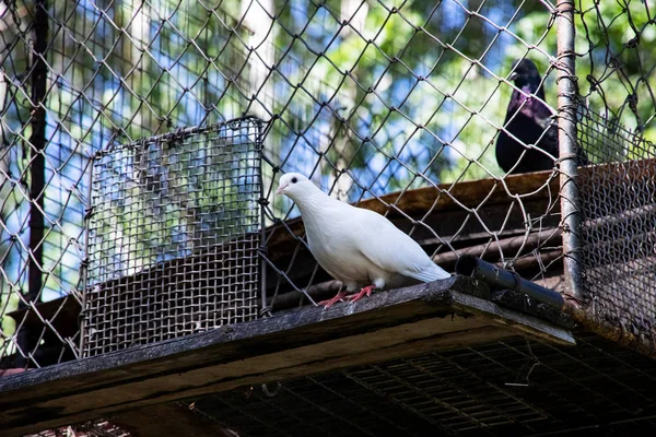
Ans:
{"type": "Polygon", "coordinates": [[[476,277],[504,290],[524,293],[558,309],[562,309],[564,305],[563,296],[560,293],[527,281],[515,272],[501,269],[471,255],[458,259],[456,273],[476,277]]]}

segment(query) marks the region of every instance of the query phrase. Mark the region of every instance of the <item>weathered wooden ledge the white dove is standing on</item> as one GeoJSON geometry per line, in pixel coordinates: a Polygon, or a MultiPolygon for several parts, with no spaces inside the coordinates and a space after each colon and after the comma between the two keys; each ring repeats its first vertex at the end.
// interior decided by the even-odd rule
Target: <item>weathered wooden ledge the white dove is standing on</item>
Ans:
{"type": "Polygon", "coordinates": [[[518,334],[572,334],[472,294],[456,276],[324,310],[305,307],[0,378],[0,429],[22,436],[151,404],[518,334]]]}

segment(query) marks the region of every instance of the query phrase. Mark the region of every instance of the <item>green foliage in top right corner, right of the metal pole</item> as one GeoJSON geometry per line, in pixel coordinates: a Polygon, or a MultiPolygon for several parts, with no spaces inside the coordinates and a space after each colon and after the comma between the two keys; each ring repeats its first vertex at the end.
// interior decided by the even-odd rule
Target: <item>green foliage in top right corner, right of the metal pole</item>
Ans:
{"type": "MultiPolygon", "coordinates": [[[[656,142],[656,26],[649,23],[647,3],[576,1],[576,75],[591,110],[609,125],[642,130],[644,139],[656,142]],[[633,97],[637,103],[632,109],[633,97]]],[[[517,35],[530,37],[548,20],[546,12],[527,15],[517,35]]],[[[554,55],[557,40],[546,39],[544,49],[554,55]]]]}

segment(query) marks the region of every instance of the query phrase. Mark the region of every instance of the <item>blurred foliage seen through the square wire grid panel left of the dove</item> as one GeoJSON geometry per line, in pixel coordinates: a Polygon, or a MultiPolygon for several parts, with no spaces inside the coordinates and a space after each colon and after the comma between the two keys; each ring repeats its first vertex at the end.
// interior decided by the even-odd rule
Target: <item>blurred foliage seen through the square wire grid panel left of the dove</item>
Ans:
{"type": "Polygon", "coordinates": [[[230,135],[227,127],[115,145],[97,158],[89,225],[93,284],[257,232],[253,135],[230,135]]]}

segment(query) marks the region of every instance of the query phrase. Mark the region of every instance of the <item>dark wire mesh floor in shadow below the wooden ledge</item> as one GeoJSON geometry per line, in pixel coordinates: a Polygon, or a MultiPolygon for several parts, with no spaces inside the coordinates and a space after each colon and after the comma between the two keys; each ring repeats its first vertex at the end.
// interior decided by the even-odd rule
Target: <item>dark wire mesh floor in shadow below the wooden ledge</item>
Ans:
{"type": "Polygon", "coordinates": [[[244,437],[656,429],[654,361],[596,335],[577,343],[573,351],[517,338],[241,387],[189,403],[244,437]]]}

